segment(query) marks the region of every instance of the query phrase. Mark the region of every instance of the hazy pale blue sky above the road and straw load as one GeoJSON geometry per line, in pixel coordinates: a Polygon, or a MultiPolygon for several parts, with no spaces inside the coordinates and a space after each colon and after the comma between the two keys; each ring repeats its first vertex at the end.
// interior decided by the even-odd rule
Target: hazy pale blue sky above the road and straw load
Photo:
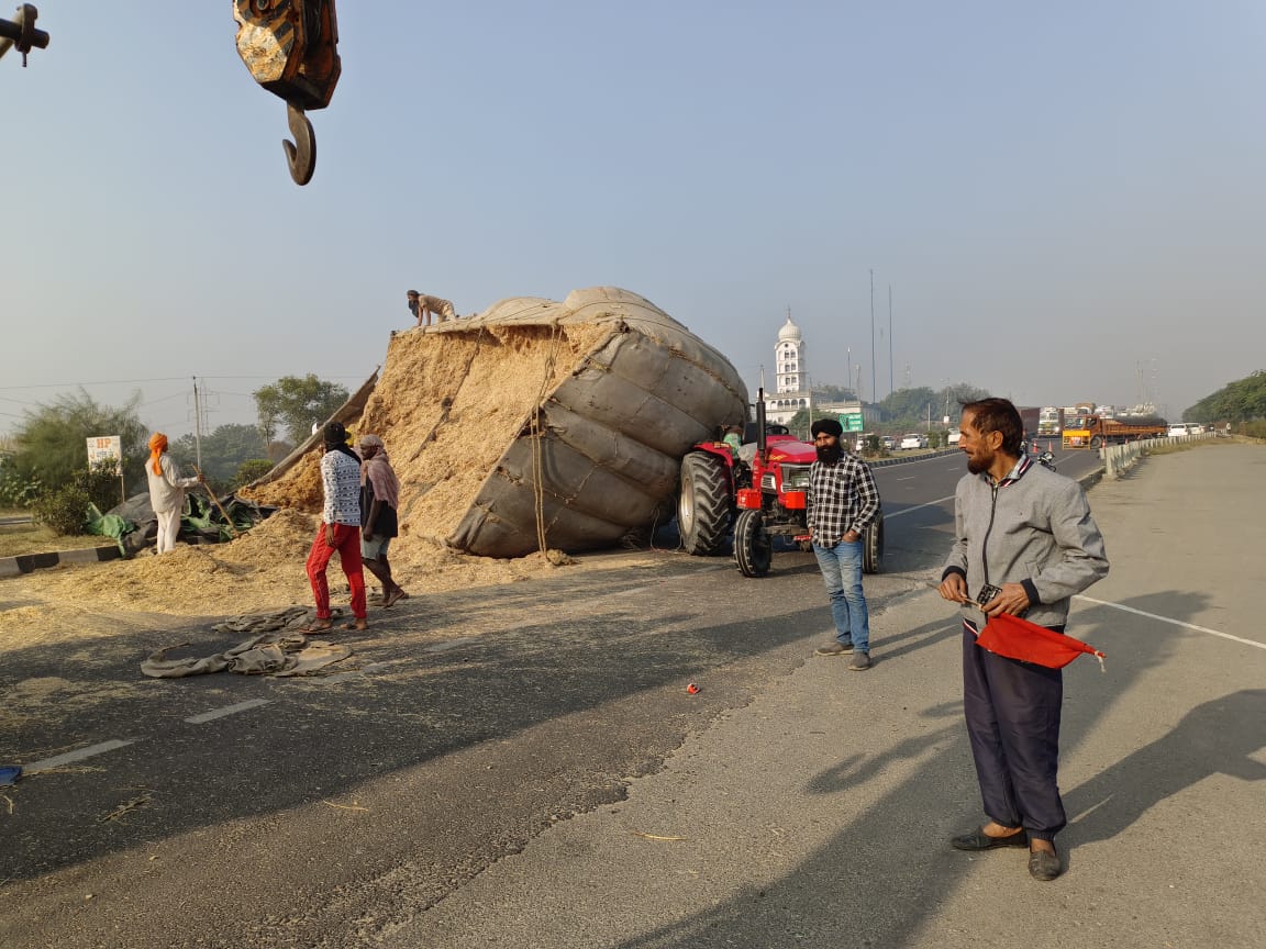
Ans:
{"type": "Polygon", "coordinates": [[[789,310],[867,400],[1176,418],[1266,368],[1258,0],[343,0],[305,187],[230,0],[37,5],[48,48],[0,59],[0,434],[80,387],[172,437],[195,377],[208,430],[281,376],[354,390],[409,288],[624,287],[753,395],[789,310]]]}

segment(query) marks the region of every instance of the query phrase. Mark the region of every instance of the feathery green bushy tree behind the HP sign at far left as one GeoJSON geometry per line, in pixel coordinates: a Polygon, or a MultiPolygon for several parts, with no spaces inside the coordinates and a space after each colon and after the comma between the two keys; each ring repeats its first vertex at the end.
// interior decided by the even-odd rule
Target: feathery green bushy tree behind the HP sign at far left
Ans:
{"type": "Polygon", "coordinates": [[[137,418],[141,394],[114,409],[97,405],[82,388],[78,395],[62,395],[41,405],[14,433],[14,452],[6,464],[11,477],[38,481],[43,491],[56,491],[87,467],[87,439],[118,435],[123,450],[123,478],[128,485],[144,481],[149,457],[149,433],[137,418]]]}

